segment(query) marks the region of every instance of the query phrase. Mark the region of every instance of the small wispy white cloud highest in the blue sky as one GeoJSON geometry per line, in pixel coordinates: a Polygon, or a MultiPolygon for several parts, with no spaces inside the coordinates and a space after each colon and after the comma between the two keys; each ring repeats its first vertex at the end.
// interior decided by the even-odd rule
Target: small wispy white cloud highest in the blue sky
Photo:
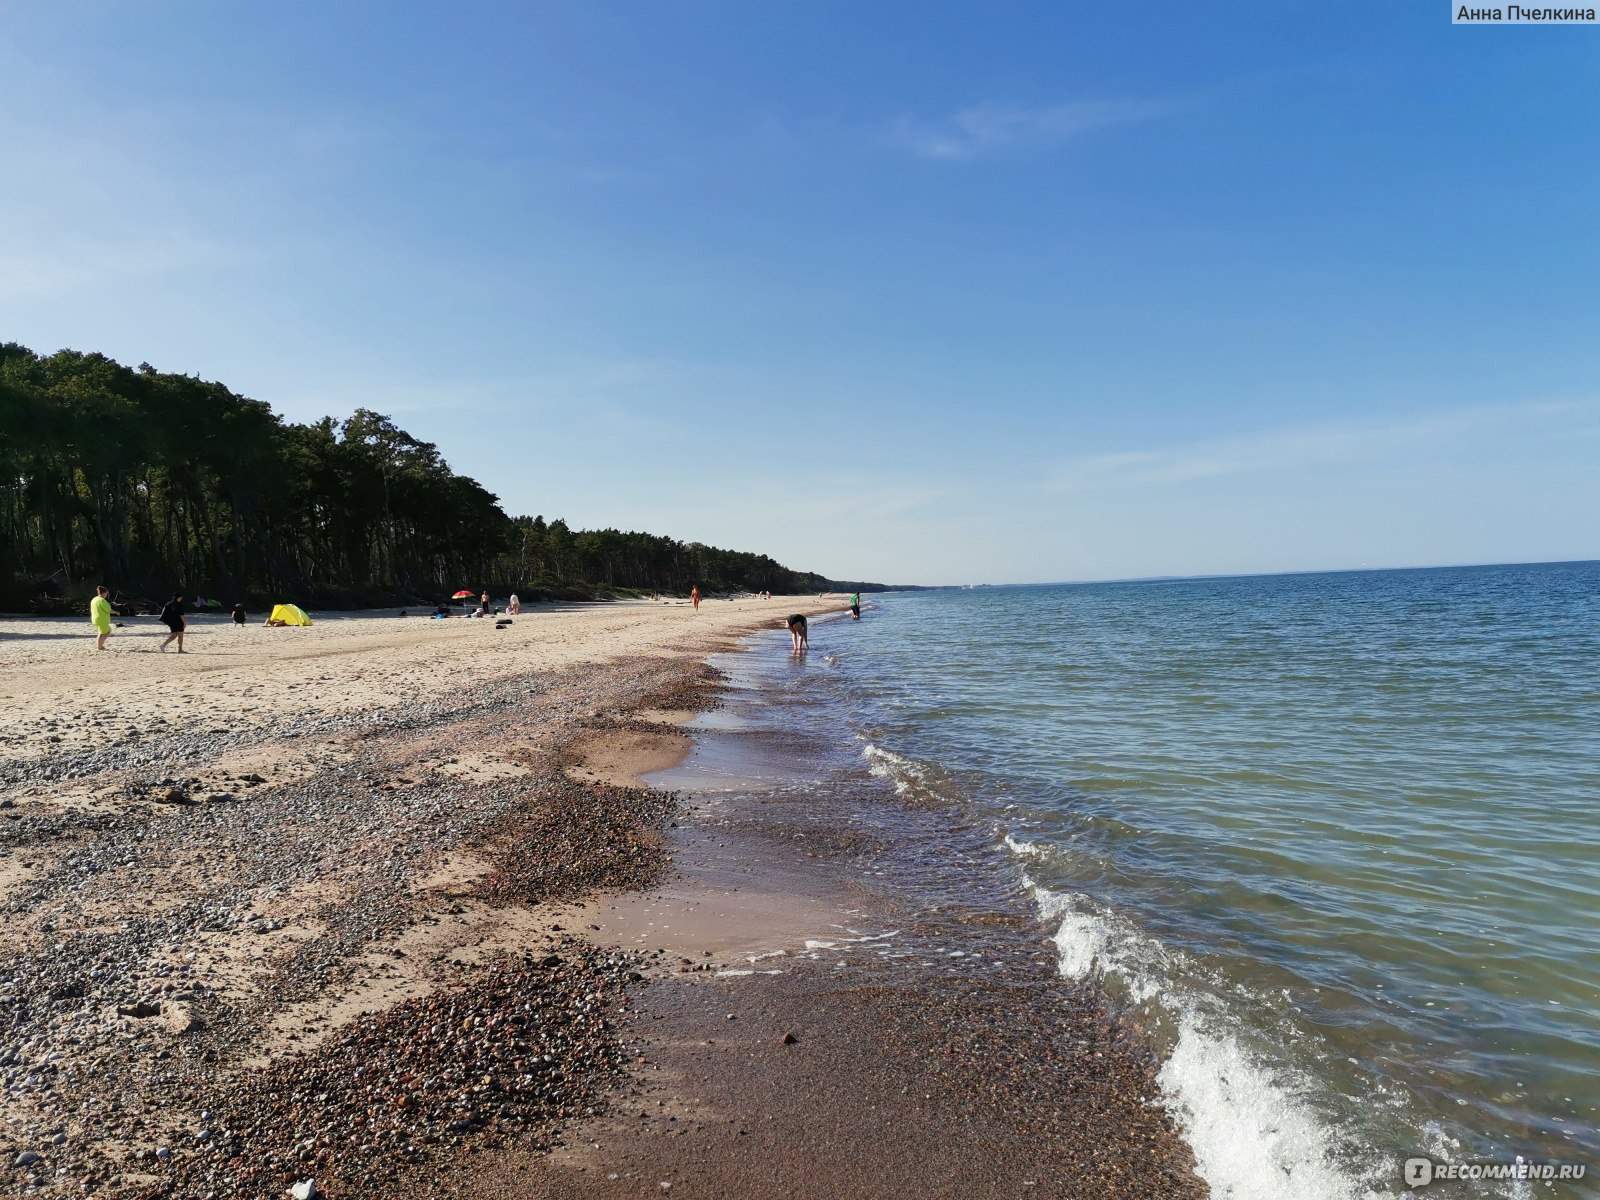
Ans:
{"type": "Polygon", "coordinates": [[[1171,110],[1165,101],[1072,101],[1043,109],[979,104],[946,122],[901,117],[890,142],[920,158],[970,162],[1003,150],[1054,146],[1091,130],[1152,120],[1171,110]]]}

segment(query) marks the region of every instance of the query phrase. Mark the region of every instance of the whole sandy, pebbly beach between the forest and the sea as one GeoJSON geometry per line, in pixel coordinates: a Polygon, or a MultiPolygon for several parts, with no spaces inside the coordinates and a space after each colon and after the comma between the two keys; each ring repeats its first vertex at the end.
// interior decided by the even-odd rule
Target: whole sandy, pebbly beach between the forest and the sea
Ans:
{"type": "Polygon", "coordinates": [[[933,918],[826,811],[642,786],[709,654],[837,606],[0,619],[0,1190],[1203,1195],[1030,922],[824,966],[933,918]]]}

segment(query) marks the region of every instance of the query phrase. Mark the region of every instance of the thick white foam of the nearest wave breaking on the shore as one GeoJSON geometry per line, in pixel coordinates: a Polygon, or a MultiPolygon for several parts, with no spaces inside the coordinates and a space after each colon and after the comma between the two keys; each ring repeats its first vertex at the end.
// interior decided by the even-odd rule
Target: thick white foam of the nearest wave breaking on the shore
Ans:
{"type": "MultiPolygon", "coordinates": [[[[1032,843],[1011,843],[1029,858],[1032,843]]],[[[1341,1136],[1306,1101],[1310,1080],[1256,1053],[1237,1018],[1213,995],[1179,982],[1184,957],[1139,931],[1126,918],[1085,896],[1050,891],[1027,878],[1054,944],[1064,976],[1093,971],[1115,976],[1134,1003],[1160,1008],[1176,1030],[1158,1083],[1168,1110],[1194,1149],[1200,1176],[1216,1200],[1365,1200],[1384,1166],[1371,1157],[1363,1178],[1341,1136]],[[1341,1154],[1342,1152],[1342,1154],[1341,1154]]]]}

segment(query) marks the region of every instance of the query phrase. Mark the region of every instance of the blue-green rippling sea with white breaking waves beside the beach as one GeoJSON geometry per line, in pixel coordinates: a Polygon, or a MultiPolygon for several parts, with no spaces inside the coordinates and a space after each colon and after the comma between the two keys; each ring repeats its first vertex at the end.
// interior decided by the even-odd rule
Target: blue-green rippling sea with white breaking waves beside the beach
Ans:
{"type": "Polygon", "coordinates": [[[1107,990],[1214,1197],[1600,1195],[1600,563],[864,600],[709,723],[963,813],[936,890],[1107,990]]]}

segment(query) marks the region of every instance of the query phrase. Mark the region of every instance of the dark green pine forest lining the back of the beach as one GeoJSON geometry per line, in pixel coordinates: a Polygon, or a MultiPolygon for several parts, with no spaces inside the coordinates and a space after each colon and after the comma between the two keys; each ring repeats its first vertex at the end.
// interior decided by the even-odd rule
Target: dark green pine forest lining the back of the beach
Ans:
{"type": "Polygon", "coordinates": [[[878,590],[762,554],[509,517],[387,416],[294,424],[219,382],[0,344],[0,606],[107,584],[355,608],[456,589],[525,598],[878,590]]]}

